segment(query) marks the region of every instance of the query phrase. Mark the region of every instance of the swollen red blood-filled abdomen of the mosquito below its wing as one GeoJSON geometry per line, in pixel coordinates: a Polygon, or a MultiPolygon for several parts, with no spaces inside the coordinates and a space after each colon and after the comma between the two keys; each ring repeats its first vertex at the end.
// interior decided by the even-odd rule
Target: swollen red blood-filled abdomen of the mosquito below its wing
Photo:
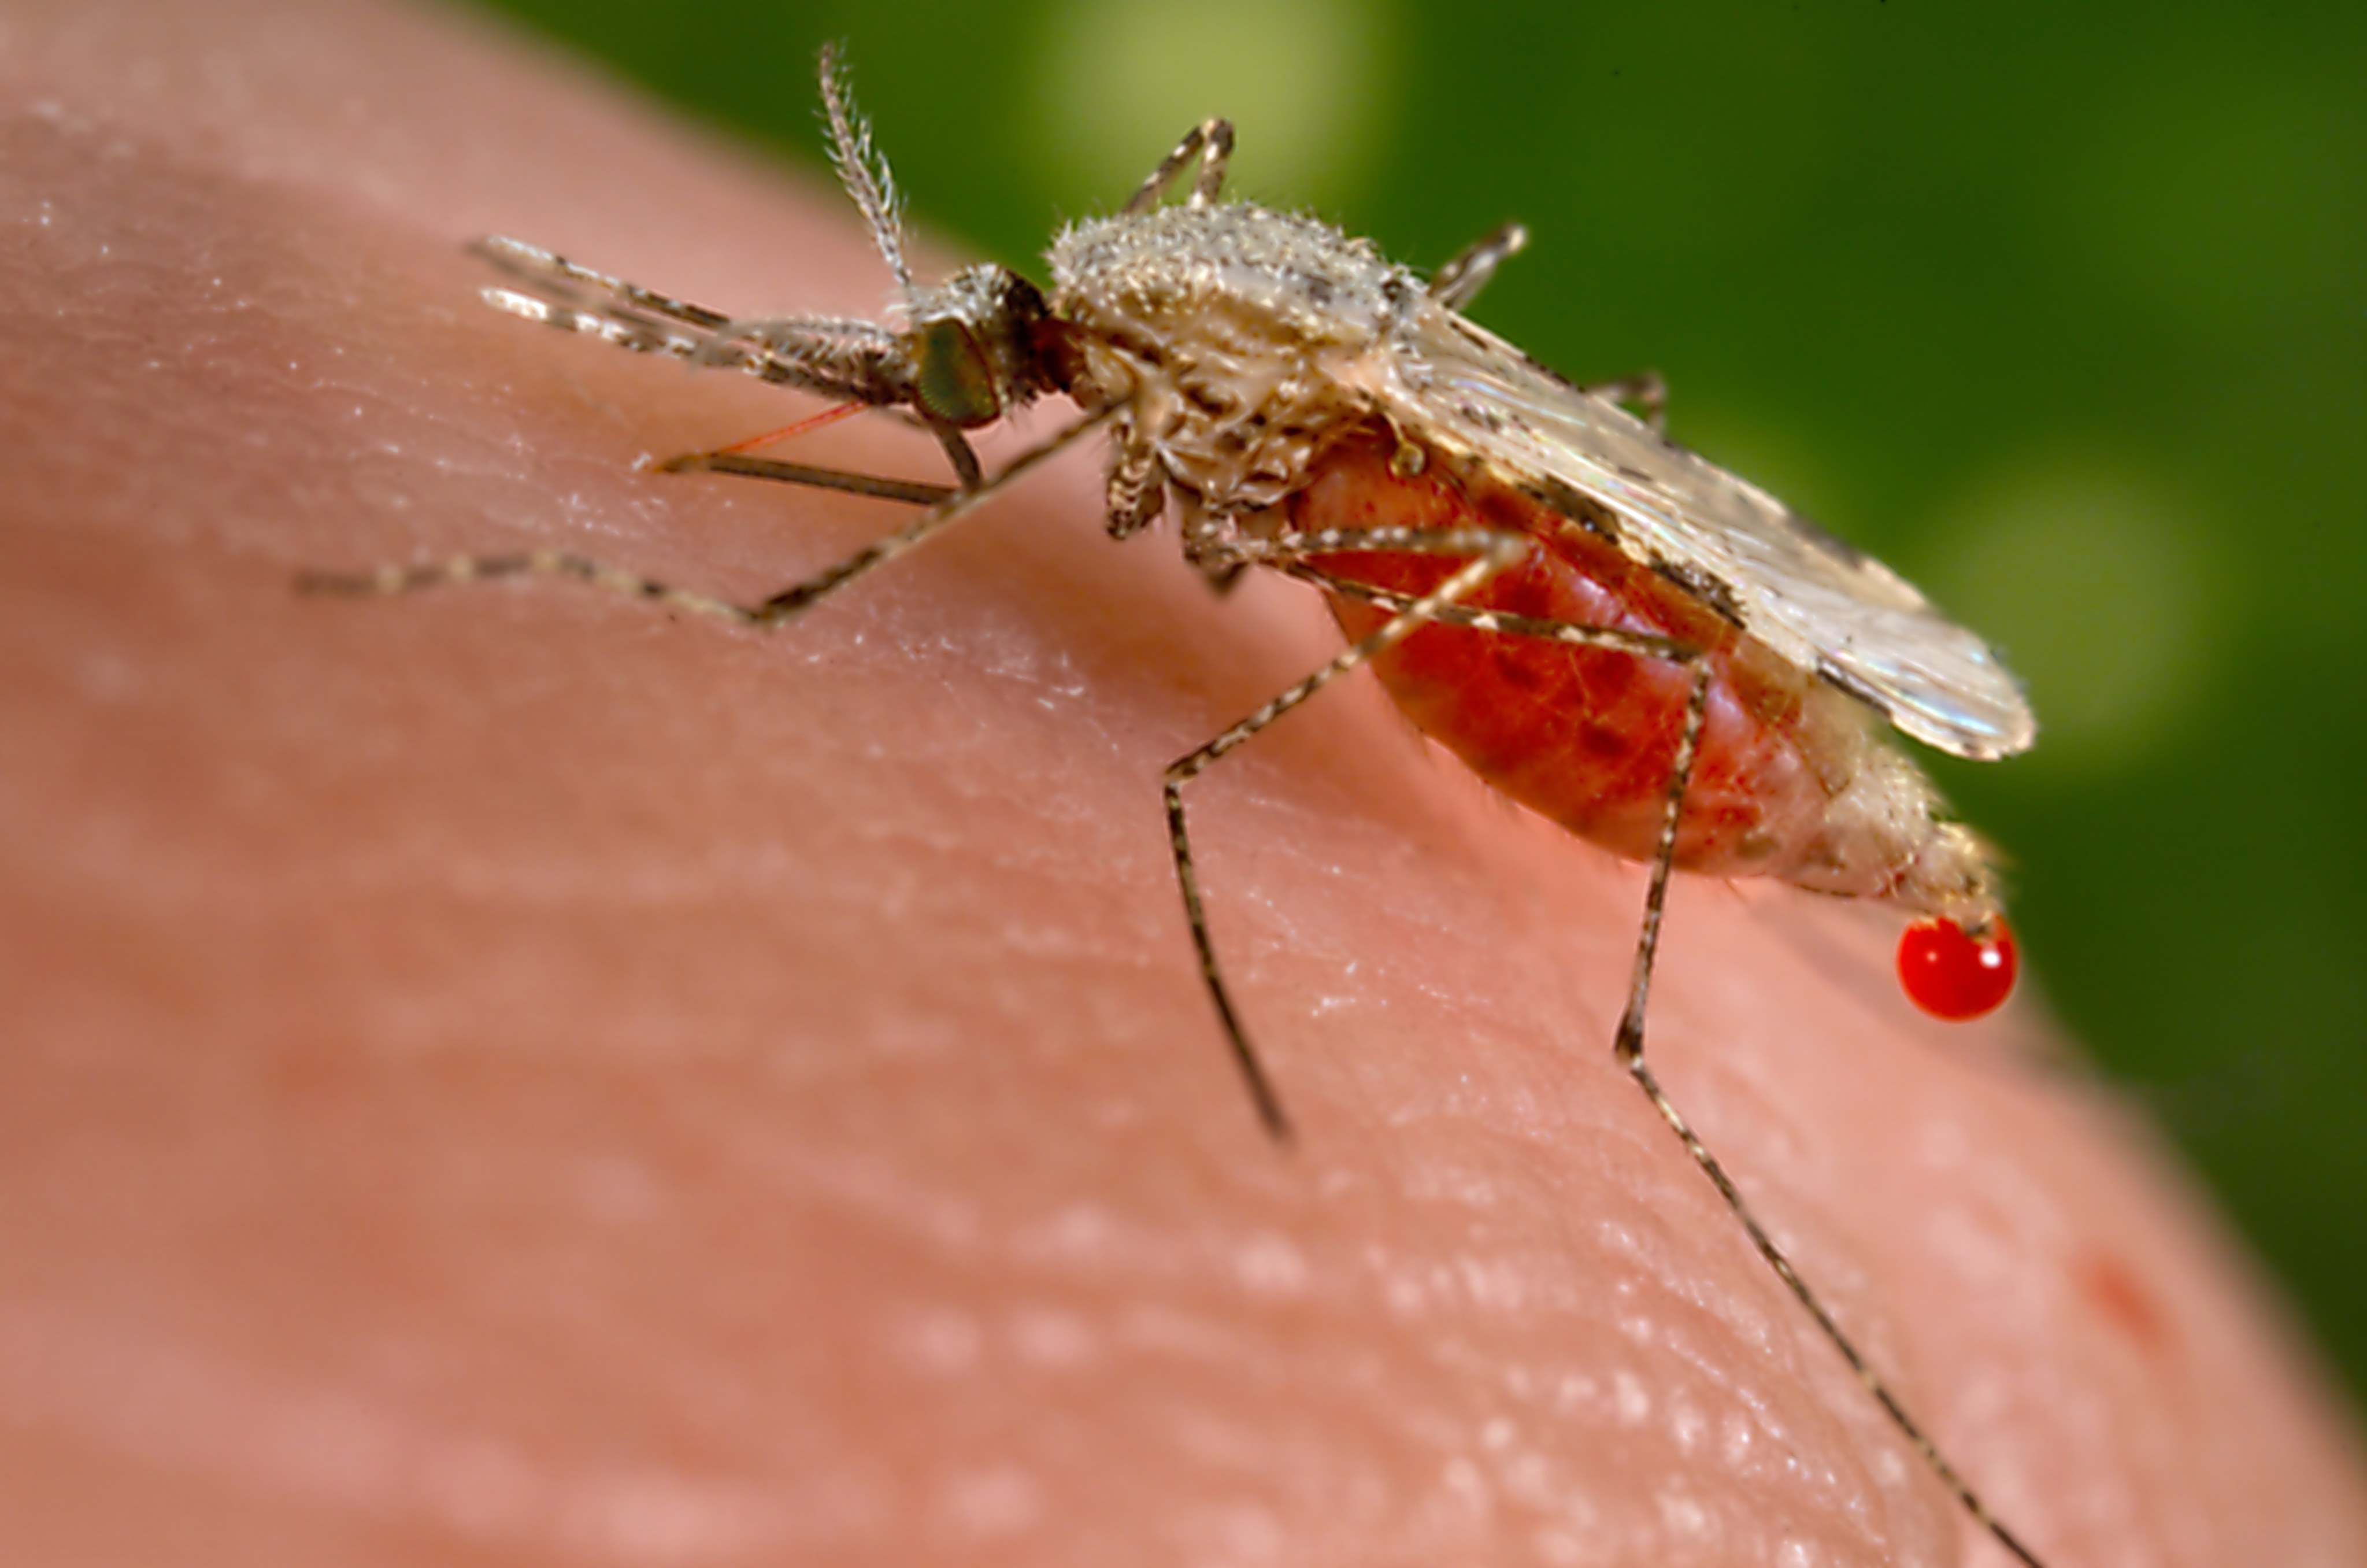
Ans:
{"type": "MultiPolygon", "coordinates": [[[[1468,604],[1657,632],[1709,654],[1709,713],[1676,862],[1726,876],[1775,874],[1818,841],[1827,803],[1846,779],[1846,758],[1825,753],[1849,737],[1834,734],[1827,694],[1813,689],[1811,675],[1550,507],[1484,478],[1451,476],[1439,462],[1427,474],[1399,476],[1392,448],[1385,431],[1337,448],[1316,481],[1285,502],[1290,528],[1484,523],[1527,533],[1536,540],[1529,559],[1468,604]]],[[[1330,554],[1314,566],[1418,595],[1460,561],[1330,554]]],[[[1387,621],[1387,611],[1344,595],[1330,595],[1330,606],[1349,637],[1387,621]]],[[[1375,670],[1397,706],[1482,779],[1619,855],[1652,855],[1685,715],[1690,677],[1681,666],[1430,625],[1382,654],[1375,670]]]]}

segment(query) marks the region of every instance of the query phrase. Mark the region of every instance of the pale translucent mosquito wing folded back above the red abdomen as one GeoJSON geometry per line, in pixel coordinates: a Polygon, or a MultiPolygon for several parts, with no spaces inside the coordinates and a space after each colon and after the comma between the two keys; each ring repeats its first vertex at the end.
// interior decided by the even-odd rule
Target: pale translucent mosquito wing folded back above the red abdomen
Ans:
{"type": "Polygon", "coordinates": [[[1905,578],[1453,310],[1420,306],[1394,353],[1359,369],[1404,429],[1610,533],[1915,739],[1986,760],[2038,737],[1988,644],[1905,578]]]}

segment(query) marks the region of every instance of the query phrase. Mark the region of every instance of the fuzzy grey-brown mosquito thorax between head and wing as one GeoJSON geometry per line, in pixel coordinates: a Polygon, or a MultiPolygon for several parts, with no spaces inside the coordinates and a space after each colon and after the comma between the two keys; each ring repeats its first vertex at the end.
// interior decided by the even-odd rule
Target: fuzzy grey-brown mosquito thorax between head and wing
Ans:
{"type": "Polygon", "coordinates": [[[1162,206],[1053,239],[1051,313],[1077,393],[1221,512],[1266,507],[1366,417],[1347,369],[1397,334],[1420,279],[1314,218],[1162,206]]]}

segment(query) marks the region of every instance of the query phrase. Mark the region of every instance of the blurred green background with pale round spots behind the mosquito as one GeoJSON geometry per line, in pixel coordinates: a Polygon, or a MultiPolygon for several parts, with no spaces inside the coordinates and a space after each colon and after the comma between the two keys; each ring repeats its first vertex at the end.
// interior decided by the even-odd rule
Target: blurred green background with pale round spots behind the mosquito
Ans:
{"type": "Polygon", "coordinates": [[[1681,441],[2029,680],[2038,751],[1943,784],[2052,1004],[2367,1388],[2358,0],[495,9],[802,163],[843,38],[916,218],[1034,275],[1207,114],[1236,192],[1413,265],[1529,223],[1489,327],[1666,372],[1681,441]]]}

